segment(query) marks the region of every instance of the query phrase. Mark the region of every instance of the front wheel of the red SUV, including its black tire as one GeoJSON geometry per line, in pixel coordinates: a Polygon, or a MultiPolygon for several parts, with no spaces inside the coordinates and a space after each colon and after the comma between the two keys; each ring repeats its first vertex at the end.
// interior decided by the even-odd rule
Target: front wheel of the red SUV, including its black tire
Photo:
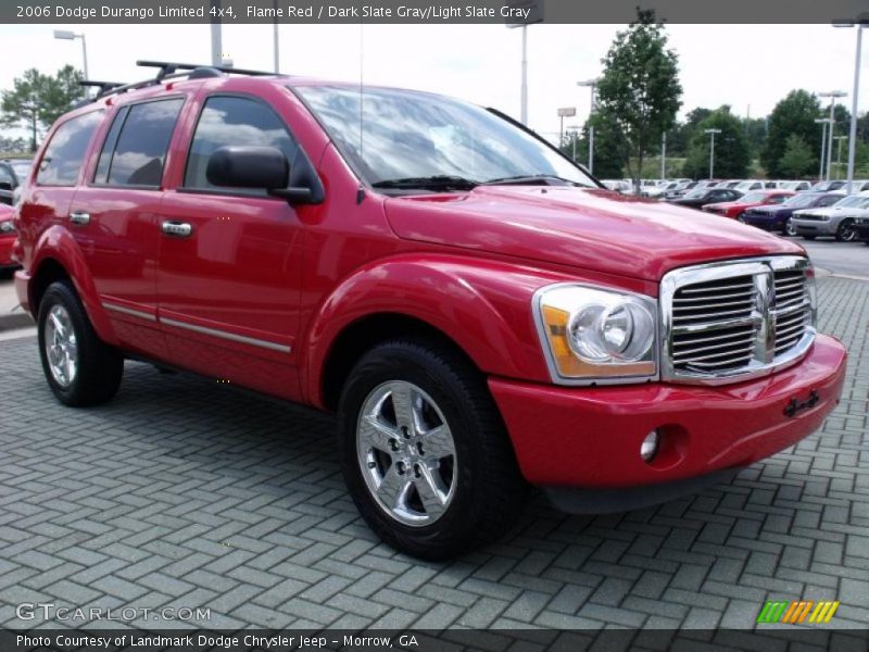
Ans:
{"type": "Polygon", "coordinates": [[[526,498],[482,375],[437,340],[365,354],[339,406],[341,466],[353,501],[393,548],[444,560],[508,530],[526,498]]]}

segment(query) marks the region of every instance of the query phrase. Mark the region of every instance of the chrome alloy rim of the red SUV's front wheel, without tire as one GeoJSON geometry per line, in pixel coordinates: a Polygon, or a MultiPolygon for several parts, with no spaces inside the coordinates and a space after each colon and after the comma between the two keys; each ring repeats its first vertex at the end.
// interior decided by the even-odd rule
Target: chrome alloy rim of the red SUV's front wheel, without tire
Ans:
{"type": "Polygon", "coordinates": [[[404,525],[431,525],[455,496],[450,426],[431,397],[412,383],[391,380],[368,394],[356,423],[356,454],[371,496],[404,525]]]}

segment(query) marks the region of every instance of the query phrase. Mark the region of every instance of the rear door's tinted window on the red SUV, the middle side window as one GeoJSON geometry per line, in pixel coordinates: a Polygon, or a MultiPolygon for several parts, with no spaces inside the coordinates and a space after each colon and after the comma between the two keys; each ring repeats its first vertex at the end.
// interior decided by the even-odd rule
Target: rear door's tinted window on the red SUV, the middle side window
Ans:
{"type": "MultiPolygon", "coordinates": [[[[136,104],[129,109],[117,137],[117,147],[108,163],[110,185],[160,186],[181,104],[184,100],[177,98],[136,104]]],[[[108,140],[106,145],[110,145],[108,140]]],[[[102,155],[100,159],[102,164],[102,155]]]]}

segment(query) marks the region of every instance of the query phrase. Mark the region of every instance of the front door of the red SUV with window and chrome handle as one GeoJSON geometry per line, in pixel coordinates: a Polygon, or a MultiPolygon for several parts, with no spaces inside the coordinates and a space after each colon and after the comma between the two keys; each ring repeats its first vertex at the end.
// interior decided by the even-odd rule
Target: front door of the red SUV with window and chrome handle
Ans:
{"type": "Polygon", "coordinates": [[[202,374],[297,398],[303,225],[284,199],[213,186],[206,166],[223,146],[275,147],[288,161],[303,154],[262,99],[216,92],[201,102],[180,187],[161,206],[158,285],[169,354],[202,374]]]}

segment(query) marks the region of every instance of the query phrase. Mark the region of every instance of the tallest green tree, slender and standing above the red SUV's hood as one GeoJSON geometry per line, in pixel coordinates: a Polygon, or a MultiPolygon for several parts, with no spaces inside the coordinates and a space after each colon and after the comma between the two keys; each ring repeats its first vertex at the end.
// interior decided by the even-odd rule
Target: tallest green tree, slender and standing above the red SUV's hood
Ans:
{"type": "Polygon", "coordinates": [[[639,179],[645,152],[658,147],[682,104],[679,58],[667,49],[667,34],[655,12],[638,9],[637,20],[616,35],[601,62],[597,106],[618,126],[628,171],[639,179]]]}

